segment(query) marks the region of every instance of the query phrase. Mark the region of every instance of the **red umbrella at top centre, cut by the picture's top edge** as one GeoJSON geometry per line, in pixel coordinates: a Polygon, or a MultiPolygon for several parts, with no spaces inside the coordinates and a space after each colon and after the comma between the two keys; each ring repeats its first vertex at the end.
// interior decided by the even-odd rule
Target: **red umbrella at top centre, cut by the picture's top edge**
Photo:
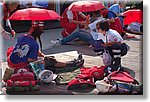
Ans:
{"type": "Polygon", "coordinates": [[[105,8],[99,1],[77,1],[72,3],[68,9],[71,11],[90,12],[105,8]]]}

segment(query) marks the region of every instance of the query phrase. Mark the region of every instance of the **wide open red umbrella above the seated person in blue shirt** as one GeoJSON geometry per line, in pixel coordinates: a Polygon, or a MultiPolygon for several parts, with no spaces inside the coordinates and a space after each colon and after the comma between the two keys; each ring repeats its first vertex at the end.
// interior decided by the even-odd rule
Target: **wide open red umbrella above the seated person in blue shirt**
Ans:
{"type": "Polygon", "coordinates": [[[27,8],[17,10],[11,15],[10,20],[57,20],[60,16],[53,10],[40,8],[27,8]]]}

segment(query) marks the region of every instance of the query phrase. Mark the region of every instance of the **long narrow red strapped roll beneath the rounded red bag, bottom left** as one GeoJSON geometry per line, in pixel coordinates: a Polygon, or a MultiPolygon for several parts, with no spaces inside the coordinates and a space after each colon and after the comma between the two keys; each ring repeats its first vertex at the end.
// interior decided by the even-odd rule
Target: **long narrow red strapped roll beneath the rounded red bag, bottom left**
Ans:
{"type": "Polygon", "coordinates": [[[35,86],[36,81],[12,81],[12,80],[7,80],[7,86],[20,86],[20,87],[25,87],[25,86],[35,86]]]}

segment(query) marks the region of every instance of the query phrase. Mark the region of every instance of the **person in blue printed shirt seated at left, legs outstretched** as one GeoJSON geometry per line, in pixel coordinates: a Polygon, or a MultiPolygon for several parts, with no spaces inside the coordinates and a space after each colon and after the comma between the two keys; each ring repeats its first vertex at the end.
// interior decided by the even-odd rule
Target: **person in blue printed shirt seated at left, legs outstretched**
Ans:
{"type": "MultiPolygon", "coordinates": [[[[10,68],[19,69],[26,68],[30,62],[38,60],[38,57],[42,57],[44,60],[47,57],[39,50],[39,45],[36,42],[36,38],[40,36],[40,33],[35,33],[37,28],[31,27],[28,34],[25,34],[18,38],[15,47],[10,47],[7,50],[7,63],[10,68]]],[[[59,62],[55,58],[49,58],[49,66],[54,67],[80,67],[84,64],[82,57],[69,62],[59,62]]],[[[47,64],[46,64],[47,65],[47,64]]],[[[46,67],[46,66],[45,66],[46,67]]]]}

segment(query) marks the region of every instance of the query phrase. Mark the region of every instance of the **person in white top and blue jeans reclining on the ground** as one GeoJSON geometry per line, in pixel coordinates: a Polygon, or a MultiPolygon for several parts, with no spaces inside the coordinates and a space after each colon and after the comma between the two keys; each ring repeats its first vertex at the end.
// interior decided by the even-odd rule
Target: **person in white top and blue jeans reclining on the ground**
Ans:
{"type": "MultiPolygon", "coordinates": [[[[85,29],[77,30],[74,33],[72,33],[69,36],[67,36],[65,38],[62,38],[62,39],[51,40],[51,43],[54,44],[54,45],[59,45],[59,44],[64,45],[64,44],[67,44],[67,43],[79,38],[79,40],[90,44],[89,42],[99,40],[99,39],[103,39],[103,36],[98,34],[98,32],[96,30],[96,23],[98,21],[101,21],[101,20],[104,20],[104,19],[102,17],[99,17],[100,15],[97,15],[97,16],[96,15],[97,15],[97,12],[92,13],[92,15],[91,15],[92,23],[87,21],[90,24],[87,23],[85,29]]],[[[87,18],[87,20],[88,19],[89,18],[87,18]]]]}

